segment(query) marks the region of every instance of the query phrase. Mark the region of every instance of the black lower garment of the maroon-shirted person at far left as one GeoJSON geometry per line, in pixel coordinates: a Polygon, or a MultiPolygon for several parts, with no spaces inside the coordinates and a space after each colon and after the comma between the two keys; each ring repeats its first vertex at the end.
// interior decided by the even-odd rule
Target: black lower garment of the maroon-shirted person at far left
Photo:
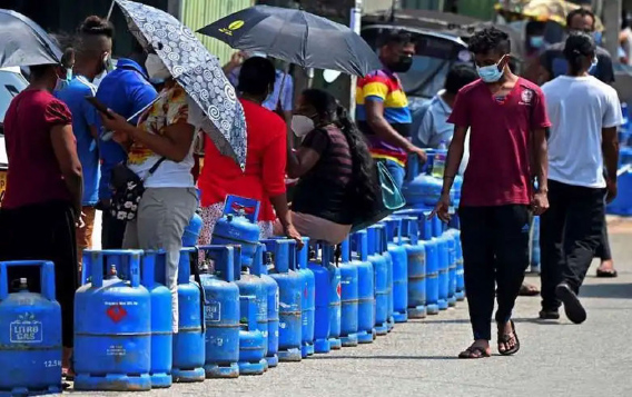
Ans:
{"type": "MultiPolygon", "coordinates": [[[[69,202],[52,201],[0,210],[0,260],[50,260],[61,306],[63,347],[73,346],[75,291],[78,288],[75,216],[69,202]]],[[[38,268],[10,268],[9,282],[27,278],[29,290],[41,291],[38,268]]],[[[14,290],[14,289],[13,289],[14,290]]]]}

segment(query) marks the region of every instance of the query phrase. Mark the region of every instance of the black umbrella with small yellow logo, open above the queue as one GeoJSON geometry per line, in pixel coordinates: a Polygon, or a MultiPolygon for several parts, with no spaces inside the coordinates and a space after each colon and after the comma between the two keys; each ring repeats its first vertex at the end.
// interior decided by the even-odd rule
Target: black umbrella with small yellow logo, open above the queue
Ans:
{"type": "Polygon", "coordinates": [[[260,51],[304,68],[366,76],[382,68],[349,28],[302,10],[255,6],[198,30],[245,51],[260,51]]]}

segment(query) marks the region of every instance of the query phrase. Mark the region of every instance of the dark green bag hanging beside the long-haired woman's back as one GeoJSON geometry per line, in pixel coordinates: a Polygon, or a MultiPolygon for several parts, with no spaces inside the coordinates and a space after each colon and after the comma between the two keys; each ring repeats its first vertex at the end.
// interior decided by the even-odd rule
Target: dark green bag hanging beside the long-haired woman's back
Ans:
{"type": "Polygon", "coordinates": [[[375,225],[406,205],[406,200],[391,172],[381,161],[376,161],[375,165],[374,183],[376,185],[376,199],[373,210],[368,214],[358,214],[350,232],[375,225]]]}

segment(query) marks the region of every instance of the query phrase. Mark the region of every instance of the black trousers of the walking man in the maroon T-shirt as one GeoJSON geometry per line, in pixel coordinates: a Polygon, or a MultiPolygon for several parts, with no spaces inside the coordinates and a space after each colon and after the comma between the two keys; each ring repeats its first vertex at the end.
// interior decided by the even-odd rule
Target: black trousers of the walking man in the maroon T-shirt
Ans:
{"type": "Polygon", "coordinates": [[[492,339],[494,294],[496,322],[511,319],[529,266],[527,206],[461,207],[465,290],[474,339],[492,339]]]}

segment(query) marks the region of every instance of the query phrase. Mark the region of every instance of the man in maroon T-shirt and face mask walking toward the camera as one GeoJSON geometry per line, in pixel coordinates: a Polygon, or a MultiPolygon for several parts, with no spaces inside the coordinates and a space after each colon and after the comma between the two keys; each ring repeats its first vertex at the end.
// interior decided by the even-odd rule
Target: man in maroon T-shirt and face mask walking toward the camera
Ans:
{"type": "Polygon", "coordinates": [[[456,96],[448,119],[455,131],[433,216],[450,219],[450,190],[470,129],[470,161],[458,216],[474,344],[458,357],[483,358],[491,355],[496,285],[498,353],[513,355],[520,349],[511,316],[529,265],[530,206],[536,215],[549,207],[545,129],[550,122],[540,88],[510,70],[506,33],[496,28],[482,30],[470,40],[470,51],[481,79],[456,96]],[[532,166],[540,187],[536,192],[532,191],[532,166]]]}

